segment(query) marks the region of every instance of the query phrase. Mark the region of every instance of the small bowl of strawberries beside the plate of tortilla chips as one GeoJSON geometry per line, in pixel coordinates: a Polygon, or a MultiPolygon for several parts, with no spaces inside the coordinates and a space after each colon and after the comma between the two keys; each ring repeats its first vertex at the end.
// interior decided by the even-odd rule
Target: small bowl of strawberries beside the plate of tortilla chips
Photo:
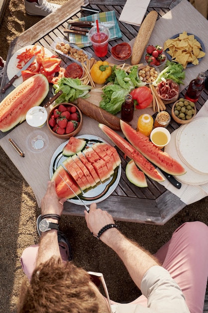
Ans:
{"type": "Polygon", "coordinates": [[[144,58],[150,65],[162,66],[167,56],[161,45],[149,44],[145,49],[144,58]]]}

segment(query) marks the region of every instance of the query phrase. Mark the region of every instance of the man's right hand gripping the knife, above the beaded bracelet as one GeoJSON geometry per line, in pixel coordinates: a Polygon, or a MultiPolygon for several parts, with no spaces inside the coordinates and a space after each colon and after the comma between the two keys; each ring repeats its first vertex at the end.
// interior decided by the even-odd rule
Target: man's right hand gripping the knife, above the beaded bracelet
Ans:
{"type": "MultiPolygon", "coordinates": [[[[113,217],[101,208],[96,208],[96,203],[90,205],[89,213],[84,211],[87,227],[97,236],[98,231],[107,224],[114,223],[113,217]]],[[[114,228],[115,229],[115,228],[114,228]]],[[[107,231],[106,231],[107,232],[107,231]]]]}

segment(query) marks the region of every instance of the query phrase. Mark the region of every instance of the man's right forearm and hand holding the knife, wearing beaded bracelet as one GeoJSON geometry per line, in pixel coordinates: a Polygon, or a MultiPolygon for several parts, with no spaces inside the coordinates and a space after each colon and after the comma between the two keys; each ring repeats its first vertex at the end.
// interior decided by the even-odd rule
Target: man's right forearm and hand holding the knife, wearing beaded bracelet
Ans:
{"type": "MultiPolygon", "coordinates": [[[[90,211],[85,211],[87,226],[93,234],[105,225],[114,223],[112,216],[101,209],[96,209],[96,204],[90,205],[90,211]]],[[[158,261],[141,246],[127,239],[117,228],[110,228],[104,231],[100,240],[110,246],[122,259],[132,279],[141,289],[141,281],[149,268],[159,265],[158,261]]]]}

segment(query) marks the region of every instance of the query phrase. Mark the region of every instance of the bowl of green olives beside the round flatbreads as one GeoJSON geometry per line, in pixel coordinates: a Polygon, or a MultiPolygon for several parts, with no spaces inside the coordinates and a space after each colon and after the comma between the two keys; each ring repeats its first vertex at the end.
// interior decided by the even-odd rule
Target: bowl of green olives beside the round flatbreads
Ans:
{"type": "Polygon", "coordinates": [[[195,103],[184,98],[180,98],[172,106],[172,117],[179,124],[189,123],[196,113],[195,103]]]}

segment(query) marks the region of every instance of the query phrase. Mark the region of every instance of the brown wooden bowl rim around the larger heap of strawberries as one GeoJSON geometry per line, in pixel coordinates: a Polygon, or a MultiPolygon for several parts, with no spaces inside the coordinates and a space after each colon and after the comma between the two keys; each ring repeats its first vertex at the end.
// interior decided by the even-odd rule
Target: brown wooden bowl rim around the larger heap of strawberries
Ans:
{"type": "Polygon", "coordinates": [[[50,110],[50,112],[48,114],[48,117],[47,117],[47,127],[48,127],[48,129],[50,130],[50,132],[54,136],[56,136],[56,137],[58,137],[60,139],[68,139],[68,138],[70,138],[72,136],[75,136],[81,130],[82,124],[83,124],[82,112],[80,111],[80,109],[76,105],[74,105],[72,103],[68,103],[68,102],[63,102],[63,103],[59,103],[59,104],[54,105],[53,108],[50,110]],[[79,125],[77,126],[77,128],[74,131],[72,131],[70,133],[64,133],[64,134],[56,133],[55,131],[52,130],[52,127],[49,125],[48,121],[49,121],[51,115],[53,114],[54,109],[58,108],[60,104],[63,104],[66,107],[74,106],[76,108],[76,111],[79,112],[79,116],[80,116],[79,125]]]}

